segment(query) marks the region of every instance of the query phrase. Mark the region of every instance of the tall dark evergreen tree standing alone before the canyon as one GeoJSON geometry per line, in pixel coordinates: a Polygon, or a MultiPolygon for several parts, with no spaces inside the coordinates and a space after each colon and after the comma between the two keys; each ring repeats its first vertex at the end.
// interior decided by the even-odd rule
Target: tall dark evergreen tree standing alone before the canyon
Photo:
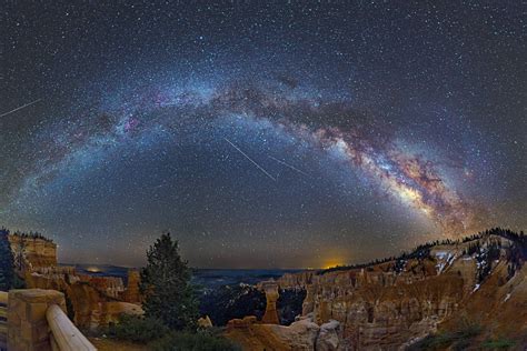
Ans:
{"type": "Polygon", "coordinates": [[[179,255],[178,241],[162,234],[147,251],[139,289],[147,317],[157,318],[175,330],[193,329],[198,300],[190,283],[188,262],[179,255]]]}

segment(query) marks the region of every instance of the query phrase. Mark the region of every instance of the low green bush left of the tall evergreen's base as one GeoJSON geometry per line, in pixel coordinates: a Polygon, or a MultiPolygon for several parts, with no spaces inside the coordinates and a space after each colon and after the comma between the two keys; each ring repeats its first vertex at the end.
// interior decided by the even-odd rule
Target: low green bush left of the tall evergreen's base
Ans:
{"type": "Polygon", "coordinates": [[[169,330],[165,324],[153,318],[121,314],[119,322],[109,327],[109,335],[121,340],[148,343],[158,340],[169,330]]]}

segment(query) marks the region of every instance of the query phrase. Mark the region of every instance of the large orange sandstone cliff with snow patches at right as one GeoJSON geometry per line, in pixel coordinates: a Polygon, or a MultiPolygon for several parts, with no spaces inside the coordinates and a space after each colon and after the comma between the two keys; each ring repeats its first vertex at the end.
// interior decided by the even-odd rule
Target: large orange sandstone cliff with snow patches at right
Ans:
{"type": "Polygon", "coordinates": [[[309,323],[238,321],[227,334],[247,350],[319,350],[314,342],[320,330],[337,323],[331,330],[338,342],[325,350],[398,350],[468,321],[480,330],[470,342],[507,338],[523,350],[527,268],[520,258],[511,271],[511,245],[506,238],[485,235],[357,269],[286,274],[277,281],[281,289],[307,290],[302,315],[309,323]]]}

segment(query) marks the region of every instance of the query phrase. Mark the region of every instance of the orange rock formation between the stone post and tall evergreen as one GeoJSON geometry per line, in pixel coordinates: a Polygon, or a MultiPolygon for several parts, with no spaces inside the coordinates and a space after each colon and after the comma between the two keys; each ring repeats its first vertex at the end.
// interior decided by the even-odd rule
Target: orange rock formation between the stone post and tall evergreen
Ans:
{"type": "Polygon", "coordinates": [[[121,278],[82,274],[74,267],[57,265],[57,245],[46,238],[11,234],[9,241],[22,262],[19,274],[27,288],[63,292],[78,327],[97,329],[117,321],[121,313],[142,314],[137,270],[129,270],[126,289],[121,278]]]}

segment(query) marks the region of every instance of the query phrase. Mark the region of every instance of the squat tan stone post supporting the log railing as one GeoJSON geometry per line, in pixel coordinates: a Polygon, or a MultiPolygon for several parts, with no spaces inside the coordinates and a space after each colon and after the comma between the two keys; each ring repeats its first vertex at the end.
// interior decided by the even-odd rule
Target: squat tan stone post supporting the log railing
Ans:
{"type": "Polygon", "coordinates": [[[41,289],[9,291],[8,350],[51,350],[46,311],[52,304],[66,311],[64,294],[56,290],[41,289]]]}

